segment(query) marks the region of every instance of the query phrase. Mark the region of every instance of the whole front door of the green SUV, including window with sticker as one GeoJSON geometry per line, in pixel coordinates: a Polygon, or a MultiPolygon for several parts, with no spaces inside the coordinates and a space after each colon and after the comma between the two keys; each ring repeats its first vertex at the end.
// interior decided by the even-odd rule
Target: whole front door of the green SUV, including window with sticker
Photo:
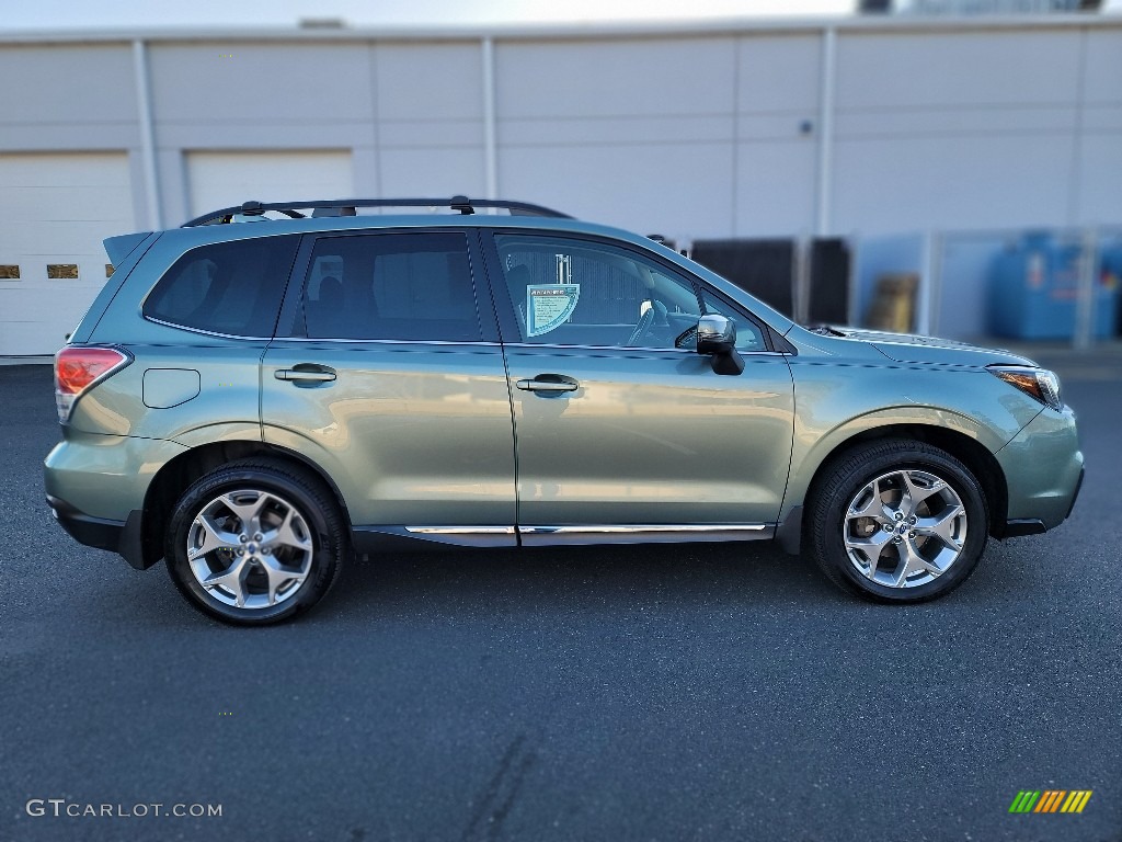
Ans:
{"type": "Polygon", "coordinates": [[[544,231],[488,239],[524,542],[698,528],[769,537],[794,399],[763,326],[625,244],[544,231]],[[693,350],[689,330],[702,312],[737,322],[743,374],[715,374],[693,350]]]}

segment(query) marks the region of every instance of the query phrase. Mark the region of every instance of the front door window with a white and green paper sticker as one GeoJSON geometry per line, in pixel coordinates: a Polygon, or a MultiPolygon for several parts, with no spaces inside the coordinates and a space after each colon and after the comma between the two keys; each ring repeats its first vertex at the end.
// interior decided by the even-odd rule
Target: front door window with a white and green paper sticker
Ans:
{"type": "Polygon", "coordinates": [[[698,319],[720,313],[736,322],[737,348],[764,347],[751,320],[629,249],[552,235],[495,242],[524,342],[689,350],[698,319]]]}

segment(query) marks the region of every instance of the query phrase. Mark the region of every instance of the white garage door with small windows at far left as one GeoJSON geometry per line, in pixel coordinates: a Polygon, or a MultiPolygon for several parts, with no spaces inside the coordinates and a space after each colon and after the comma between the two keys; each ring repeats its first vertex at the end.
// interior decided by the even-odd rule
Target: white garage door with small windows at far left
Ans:
{"type": "Polygon", "coordinates": [[[0,154],[0,356],[58,350],[136,228],[126,153],[0,154]]]}

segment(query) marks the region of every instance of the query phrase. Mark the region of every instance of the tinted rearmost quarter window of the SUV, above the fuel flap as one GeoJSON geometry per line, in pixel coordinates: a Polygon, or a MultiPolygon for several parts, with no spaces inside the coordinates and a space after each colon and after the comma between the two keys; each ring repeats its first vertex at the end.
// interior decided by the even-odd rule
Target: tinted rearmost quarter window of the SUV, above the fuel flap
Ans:
{"type": "Polygon", "coordinates": [[[144,314],[184,328],[272,337],[298,237],[260,237],[193,248],[175,262],[144,314]]]}

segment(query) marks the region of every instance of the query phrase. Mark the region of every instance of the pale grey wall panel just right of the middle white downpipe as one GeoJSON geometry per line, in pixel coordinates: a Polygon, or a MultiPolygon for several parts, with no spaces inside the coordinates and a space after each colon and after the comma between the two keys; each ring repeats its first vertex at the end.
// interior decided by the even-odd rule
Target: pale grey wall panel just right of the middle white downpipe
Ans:
{"type": "Polygon", "coordinates": [[[679,237],[729,231],[733,38],[497,51],[500,193],[679,237]]]}

